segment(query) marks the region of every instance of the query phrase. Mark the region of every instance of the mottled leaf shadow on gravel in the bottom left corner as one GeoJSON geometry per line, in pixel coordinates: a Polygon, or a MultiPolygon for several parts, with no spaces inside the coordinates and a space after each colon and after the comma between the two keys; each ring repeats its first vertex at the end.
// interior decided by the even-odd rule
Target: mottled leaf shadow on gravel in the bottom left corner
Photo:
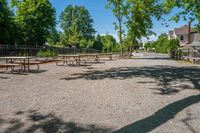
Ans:
{"type": "Polygon", "coordinates": [[[1,125],[7,125],[5,133],[110,133],[111,129],[97,125],[83,125],[75,122],[65,122],[54,114],[41,114],[37,111],[16,112],[11,120],[0,119],[1,125]],[[26,117],[26,121],[19,119],[26,117]],[[28,123],[28,126],[26,125],[28,123]]]}

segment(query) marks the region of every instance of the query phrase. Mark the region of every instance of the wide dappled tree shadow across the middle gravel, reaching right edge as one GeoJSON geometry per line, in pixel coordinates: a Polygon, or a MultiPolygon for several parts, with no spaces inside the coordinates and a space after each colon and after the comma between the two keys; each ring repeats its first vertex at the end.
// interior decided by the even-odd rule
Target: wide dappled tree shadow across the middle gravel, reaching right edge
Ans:
{"type": "MultiPolygon", "coordinates": [[[[104,71],[88,70],[62,78],[61,80],[125,80],[135,77],[152,78],[158,88],[153,88],[159,95],[173,95],[185,89],[200,90],[200,68],[199,67],[173,67],[173,66],[151,66],[151,67],[120,67],[104,71]]],[[[138,82],[141,83],[141,82],[138,82]]],[[[151,83],[151,81],[142,81],[151,83]]]]}

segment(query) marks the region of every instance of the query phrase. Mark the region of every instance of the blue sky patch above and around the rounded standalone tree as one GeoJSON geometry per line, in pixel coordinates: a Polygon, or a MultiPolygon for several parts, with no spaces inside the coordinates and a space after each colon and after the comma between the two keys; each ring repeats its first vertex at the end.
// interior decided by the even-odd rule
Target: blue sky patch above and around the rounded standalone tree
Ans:
{"type": "Polygon", "coordinates": [[[106,0],[50,0],[50,2],[56,9],[57,19],[67,5],[83,5],[89,10],[94,20],[94,28],[99,34],[107,32],[116,34],[113,26],[115,18],[111,10],[105,8],[106,0]]]}

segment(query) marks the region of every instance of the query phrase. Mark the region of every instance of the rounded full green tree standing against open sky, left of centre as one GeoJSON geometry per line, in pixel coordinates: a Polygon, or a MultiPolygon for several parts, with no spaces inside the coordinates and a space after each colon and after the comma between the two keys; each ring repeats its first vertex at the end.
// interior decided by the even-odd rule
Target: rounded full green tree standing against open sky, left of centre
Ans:
{"type": "Polygon", "coordinates": [[[76,45],[93,38],[93,19],[84,6],[67,6],[60,15],[61,28],[66,42],[76,45]]]}

